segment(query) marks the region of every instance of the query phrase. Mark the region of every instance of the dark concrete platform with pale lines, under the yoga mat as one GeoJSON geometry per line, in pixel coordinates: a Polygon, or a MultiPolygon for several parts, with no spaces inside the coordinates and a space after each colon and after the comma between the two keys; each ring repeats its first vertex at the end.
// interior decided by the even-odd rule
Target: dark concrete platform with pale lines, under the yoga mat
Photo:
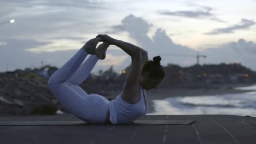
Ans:
{"type": "MultiPolygon", "coordinates": [[[[138,121],[195,120],[187,125],[1,125],[1,143],[256,143],[256,117],[146,115],[138,121]]],[[[0,117],[0,122],[79,121],[72,115],[0,117]]]]}

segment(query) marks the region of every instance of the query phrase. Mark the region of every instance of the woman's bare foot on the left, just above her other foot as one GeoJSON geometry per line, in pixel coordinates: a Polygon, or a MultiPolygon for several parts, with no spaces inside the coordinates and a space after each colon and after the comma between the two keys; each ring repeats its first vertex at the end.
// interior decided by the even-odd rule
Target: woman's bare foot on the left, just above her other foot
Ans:
{"type": "Polygon", "coordinates": [[[83,49],[90,55],[95,55],[96,46],[98,42],[102,41],[101,38],[93,38],[87,41],[87,43],[83,46],[83,49]]]}

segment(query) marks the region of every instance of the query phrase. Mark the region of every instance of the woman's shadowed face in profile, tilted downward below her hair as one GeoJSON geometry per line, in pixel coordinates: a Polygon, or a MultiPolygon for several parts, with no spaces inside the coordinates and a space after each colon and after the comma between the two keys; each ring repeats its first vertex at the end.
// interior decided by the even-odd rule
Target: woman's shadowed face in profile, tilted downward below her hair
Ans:
{"type": "Polygon", "coordinates": [[[158,84],[162,81],[162,79],[155,79],[149,77],[149,73],[145,73],[141,76],[141,87],[146,89],[147,91],[152,88],[158,87],[158,84]]]}

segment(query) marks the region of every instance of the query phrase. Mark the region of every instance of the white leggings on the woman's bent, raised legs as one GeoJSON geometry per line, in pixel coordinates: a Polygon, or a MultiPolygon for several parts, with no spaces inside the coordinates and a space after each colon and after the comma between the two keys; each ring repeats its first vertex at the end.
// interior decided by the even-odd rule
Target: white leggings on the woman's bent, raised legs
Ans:
{"type": "Polygon", "coordinates": [[[80,49],[60,69],[49,78],[48,86],[65,109],[88,123],[104,123],[109,100],[98,94],[88,94],[78,85],[90,74],[98,61],[96,55],[90,55],[80,49]],[[83,64],[82,64],[83,63],[83,64]]]}

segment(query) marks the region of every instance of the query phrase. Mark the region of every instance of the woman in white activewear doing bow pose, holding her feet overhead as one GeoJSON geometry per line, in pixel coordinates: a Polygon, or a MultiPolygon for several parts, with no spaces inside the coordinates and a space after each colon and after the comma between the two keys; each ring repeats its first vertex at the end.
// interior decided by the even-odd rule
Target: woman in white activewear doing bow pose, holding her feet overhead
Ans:
{"type": "Polygon", "coordinates": [[[49,78],[48,85],[65,109],[88,123],[131,123],[146,115],[147,96],[144,89],[156,88],[164,79],[160,56],[148,61],[147,51],[138,46],[100,34],[89,40],[75,55],[49,78]],[[103,41],[96,49],[98,42],[103,41]],[[102,95],[87,94],[78,85],[94,68],[98,59],[106,57],[109,45],[116,45],[132,58],[123,92],[108,101],[102,95]],[[86,59],[86,56],[91,56],[86,59]],[[83,63],[83,64],[82,64],[83,63]]]}

